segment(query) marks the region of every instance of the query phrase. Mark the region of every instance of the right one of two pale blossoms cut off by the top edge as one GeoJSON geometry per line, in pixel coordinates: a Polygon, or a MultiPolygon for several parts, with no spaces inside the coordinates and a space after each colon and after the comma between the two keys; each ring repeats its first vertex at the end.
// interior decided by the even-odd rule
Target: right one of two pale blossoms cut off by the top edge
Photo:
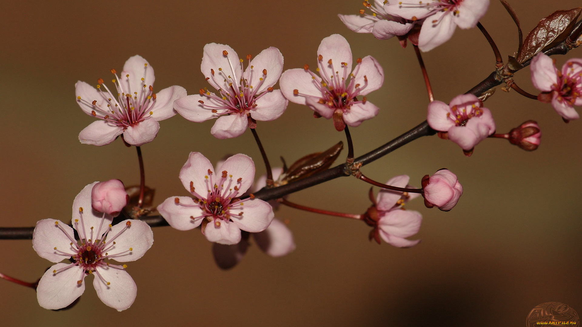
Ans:
{"type": "Polygon", "coordinates": [[[477,26],[488,6],[489,0],[404,0],[386,3],[384,10],[405,19],[424,19],[418,48],[430,51],[448,41],[457,26],[461,29],[477,26]]]}

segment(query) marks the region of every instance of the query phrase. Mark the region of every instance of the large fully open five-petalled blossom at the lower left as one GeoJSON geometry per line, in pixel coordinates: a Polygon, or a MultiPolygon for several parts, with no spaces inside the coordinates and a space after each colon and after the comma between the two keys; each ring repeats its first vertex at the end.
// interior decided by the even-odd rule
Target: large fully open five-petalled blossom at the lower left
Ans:
{"type": "Polygon", "coordinates": [[[74,198],[73,229],[55,219],[42,219],[33,232],[33,248],[42,258],[60,262],[49,268],[38,282],[37,299],[41,307],[61,309],[73,303],[85,290],[85,277],[94,275],[97,296],[118,311],[129,308],[136,298],[137,287],[118,262],[135,261],[154,243],[150,226],[143,221],[127,219],[111,226],[112,216],[91,208],[91,190],[98,182],[88,184],[74,198]]]}

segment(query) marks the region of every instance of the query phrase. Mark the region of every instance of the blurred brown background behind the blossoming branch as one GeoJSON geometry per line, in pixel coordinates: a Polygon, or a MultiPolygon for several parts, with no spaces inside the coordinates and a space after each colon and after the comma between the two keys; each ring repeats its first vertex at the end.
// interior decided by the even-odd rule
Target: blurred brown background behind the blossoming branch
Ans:
{"type": "MultiPolygon", "coordinates": [[[[511,1],[524,33],[557,9],[579,0],[511,1]]],[[[154,90],[171,85],[196,93],[204,44],[228,44],[240,56],[269,46],[285,56],[285,69],[315,65],[322,38],[344,35],[354,58],[372,55],[384,67],[381,90],[368,95],[381,107],[377,118],[352,129],[361,155],[416,126],[428,104],[412,48],[396,40],[348,30],[336,16],[357,13],[356,1],[12,1],[0,12],[0,226],[68,221],[74,196],[95,180],[139,182],[133,148],[119,140],[105,147],[80,144],[79,131],[93,122],[74,101],[77,80],[108,80],[132,55],[155,69],[154,90]]],[[[516,27],[492,1],[482,23],[501,52],[517,47],[516,27]]],[[[582,56],[582,49],[556,56],[582,56]]],[[[494,69],[494,56],[477,29],[457,29],[452,40],[424,55],[435,97],[448,102],[494,69]]],[[[516,77],[534,93],[529,69],[516,77]]],[[[276,86],[277,87],[277,86],[276,86]]],[[[535,305],[559,301],[582,314],[580,171],[582,129],[544,105],[497,90],[485,105],[506,133],[534,119],[541,147],[528,153],[503,140],[485,140],[466,158],[450,141],[414,141],[368,166],[379,181],[407,174],[415,184],[439,168],[455,172],[464,186],[451,212],[409,204],[424,216],[422,243],[410,249],[367,240],[364,223],[282,208],[297,250],[274,259],[256,246],[231,271],[215,266],[211,244],[199,230],[154,229],[155,243],[128,272],[139,292],[133,306],[116,312],[88,285],[72,310],[38,306],[33,290],[0,280],[0,325],[62,326],[523,326],[535,305]]],[[[281,119],[258,132],[272,163],[328,148],[344,135],[332,122],[313,119],[306,106],[290,104],[281,119]]],[[[157,202],[186,195],[178,172],[190,151],[211,161],[243,152],[264,173],[249,131],[218,140],[212,122],[180,116],[161,122],[158,137],[142,147],[146,182],[157,202]]],[[[345,154],[343,154],[345,155],[345,154]]],[[[342,155],[342,157],[343,157],[342,155]]],[[[368,185],[343,178],[293,194],[290,199],[335,211],[362,213],[368,185]]],[[[29,240],[0,241],[0,272],[34,281],[50,262],[29,240]]],[[[88,279],[91,283],[91,279],[88,279]]]]}

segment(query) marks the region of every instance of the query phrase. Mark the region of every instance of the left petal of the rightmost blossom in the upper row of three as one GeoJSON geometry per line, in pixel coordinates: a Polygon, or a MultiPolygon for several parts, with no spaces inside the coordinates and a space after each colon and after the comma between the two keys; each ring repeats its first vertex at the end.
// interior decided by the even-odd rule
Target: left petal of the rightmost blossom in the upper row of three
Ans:
{"type": "Polygon", "coordinates": [[[321,98],[321,91],[318,87],[321,83],[321,78],[319,76],[313,76],[312,74],[303,68],[285,70],[281,74],[281,79],[279,79],[279,86],[281,87],[283,96],[289,99],[289,101],[300,105],[305,104],[304,95],[321,98]],[[294,94],[294,90],[299,91],[299,94],[294,94]]]}

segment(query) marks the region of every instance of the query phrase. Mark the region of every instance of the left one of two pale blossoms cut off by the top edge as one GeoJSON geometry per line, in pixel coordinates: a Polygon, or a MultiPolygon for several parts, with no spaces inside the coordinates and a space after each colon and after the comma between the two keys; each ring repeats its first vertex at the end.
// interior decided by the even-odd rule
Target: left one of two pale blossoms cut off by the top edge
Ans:
{"type": "Polygon", "coordinates": [[[338,15],[339,19],[348,29],[356,33],[372,33],[378,40],[388,40],[394,36],[409,33],[414,26],[413,21],[388,15],[384,11],[384,3],[388,3],[386,1],[374,0],[373,2],[372,5],[364,1],[364,6],[371,10],[372,15],[365,13],[365,9],[360,9],[360,15],[338,15]]]}

